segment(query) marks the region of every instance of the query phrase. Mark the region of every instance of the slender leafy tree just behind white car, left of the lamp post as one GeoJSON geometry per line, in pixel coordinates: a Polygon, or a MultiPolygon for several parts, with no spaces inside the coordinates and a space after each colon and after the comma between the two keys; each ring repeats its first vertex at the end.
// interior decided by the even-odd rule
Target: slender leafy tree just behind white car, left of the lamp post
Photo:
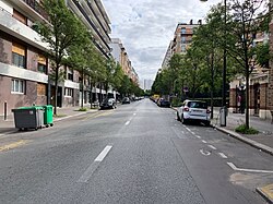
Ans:
{"type": "Polygon", "coordinates": [[[192,48],[200,50],[200,63],[205,65],[202,72],[202,89],[209,88],[211,95],[211,118],[213,118],[214,93],[221,87],[223,49],[219,46],[223,36],[221,29],[223,8],[221,4],[213,7],[206,14],[206,24],[201,25],[194,33],[192,48]]]}

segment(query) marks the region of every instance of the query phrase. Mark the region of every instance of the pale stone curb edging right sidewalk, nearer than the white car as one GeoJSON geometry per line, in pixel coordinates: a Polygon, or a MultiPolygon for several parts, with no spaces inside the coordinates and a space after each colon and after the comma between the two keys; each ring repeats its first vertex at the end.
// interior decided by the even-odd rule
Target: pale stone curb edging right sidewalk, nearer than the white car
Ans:
{"type": "Polygon", "coordinates": [[[240,135],[240,134],[238,134],[238,133],[236,133],[234,131],[226,130],[226,129],[219,128],[217,125],[212,125],[212,127],[215,128],[216,130],[219,130],[221,132],[229,134],[230,136],[239,140],[241,142],[245,142],[245,143],[247,143],[247,144],[249,144],[249,145],[251,145],[251,146],[253,146],[253,147],[256,147],[258,149],[261,149],[261,151],[263,151],[263,152],[265,152],[265,153],[268,153],[268,154],[270,154],[270,155],[273,156],[273,148],[271,148],[271,147],[269,147],[269,146],[266,146],[264,144],[258,143],[258,142],[252,141],[250,139],[247,139],[247,137],[245,137],[245,136],[242,136],[242,135],[240,135]]]}

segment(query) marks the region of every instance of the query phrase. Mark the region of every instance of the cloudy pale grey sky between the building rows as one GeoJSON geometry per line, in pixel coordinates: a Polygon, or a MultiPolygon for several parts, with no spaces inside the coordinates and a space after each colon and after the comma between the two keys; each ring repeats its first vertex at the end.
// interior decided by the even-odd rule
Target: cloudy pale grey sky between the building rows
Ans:
{"type": "Polygon", "coordinates": [[[102,0],[140,80],[154,80],[179,22],[203,19],[221,0],[102,0]]]}

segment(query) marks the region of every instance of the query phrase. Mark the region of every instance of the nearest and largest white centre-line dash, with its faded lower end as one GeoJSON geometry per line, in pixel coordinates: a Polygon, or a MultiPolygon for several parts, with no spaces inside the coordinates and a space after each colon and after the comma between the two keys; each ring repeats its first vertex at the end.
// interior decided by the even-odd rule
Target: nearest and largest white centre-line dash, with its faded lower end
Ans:
{"type": "Polygon", "coordinates": [[[97,169],[100,161],[104,160],[106,155],[109,153],[112,146],[107,145],[103,152],[97,156],[97,158],[88,166],[88,168],[84,171],[84,173],[81,176],[81,178],[78,180],[78,182],[87,182],[93,172],[97,169]]]}

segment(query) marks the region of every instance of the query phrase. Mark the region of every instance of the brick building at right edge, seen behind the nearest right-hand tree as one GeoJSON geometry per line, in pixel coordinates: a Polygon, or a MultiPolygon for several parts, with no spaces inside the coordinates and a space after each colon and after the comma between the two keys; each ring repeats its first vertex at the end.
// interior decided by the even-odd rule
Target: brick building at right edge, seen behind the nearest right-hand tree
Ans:
{"type": "MultiPolygon", "coordinates": [[[[260,32],[252,36],[253,47],[259,44],[269,43],[270,35],[265,32],[260,32]]],[[[249,76],[249,113],[260,118],[271,118],[272,110],[272,69],[252,67],[252,72],[249,76]]],[[[230,83],[229,88],[229,111],[242,112],[246,96],[246,79],[242,75],[237,75],[230,83]]]]}

